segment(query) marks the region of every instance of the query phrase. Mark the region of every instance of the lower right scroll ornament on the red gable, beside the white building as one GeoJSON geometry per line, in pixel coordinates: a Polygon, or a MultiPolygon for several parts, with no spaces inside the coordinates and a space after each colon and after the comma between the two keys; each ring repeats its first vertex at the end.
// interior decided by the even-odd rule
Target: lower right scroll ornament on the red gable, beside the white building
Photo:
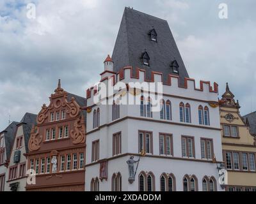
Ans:
{"type": "Polygon", "coordinates": [[[83,115],[74,122],[74,129],[70,131],[70,137],[74,144],[85,142],[85,125],[83,115]],[[75,130],[74,130],[75,129],[75,130]]]}

